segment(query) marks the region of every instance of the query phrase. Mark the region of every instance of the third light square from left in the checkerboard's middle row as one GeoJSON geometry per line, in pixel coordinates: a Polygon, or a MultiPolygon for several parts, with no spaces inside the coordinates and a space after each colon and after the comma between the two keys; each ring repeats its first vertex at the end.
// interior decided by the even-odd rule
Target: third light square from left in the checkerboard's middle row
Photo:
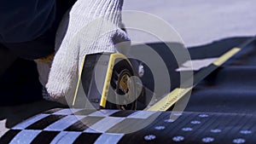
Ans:
{"type": "Polygon", "coordinates": [[[90,129],[103,133],[111,129],[114,125],[119,124],[119,122],[123,121],[124,119],[125,118],[114,118],[114,117],[103,118],[102,120],[98,121],[96,124],[91,125],[90,129]]]}

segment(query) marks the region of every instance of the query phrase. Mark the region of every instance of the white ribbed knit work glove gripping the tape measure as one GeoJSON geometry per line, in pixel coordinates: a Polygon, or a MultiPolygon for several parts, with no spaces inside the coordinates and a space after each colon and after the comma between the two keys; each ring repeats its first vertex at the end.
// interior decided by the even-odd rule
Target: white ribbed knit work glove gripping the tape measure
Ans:
{"type": "Polygon", "coordinates": [[[64,16],[56,34],[56,54],[46,84],[55,100],[73,96],[84,55],[125,50],[115,46],[129,43],[119,28],[122,4],[123,0],[78,0],[64,16]]]}

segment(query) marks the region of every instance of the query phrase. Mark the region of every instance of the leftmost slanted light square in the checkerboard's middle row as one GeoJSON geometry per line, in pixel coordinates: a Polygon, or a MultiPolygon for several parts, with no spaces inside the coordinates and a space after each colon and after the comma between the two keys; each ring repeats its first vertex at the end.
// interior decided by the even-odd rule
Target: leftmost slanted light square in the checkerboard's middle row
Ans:
{"type": "Polygon", "coordinates": [[[15,127],[13,127],[12,130],[24,130],[29,125],[34,124],[34,123],[38,122],[38,120],[46,118],[47,116],[49,116],[49,114],[38,114],[32,118],[27,119],[26,121],[24,121],[20,124],[15,125],[15,127]]]}

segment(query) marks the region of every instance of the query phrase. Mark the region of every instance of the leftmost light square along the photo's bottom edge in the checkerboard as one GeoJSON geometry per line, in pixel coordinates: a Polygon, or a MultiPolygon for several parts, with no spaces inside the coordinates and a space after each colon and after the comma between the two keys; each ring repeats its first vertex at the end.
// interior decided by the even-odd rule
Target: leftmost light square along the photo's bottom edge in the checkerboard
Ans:
{"type": "Polygon", "coordinates": [[[21,130],[10,144],[23,144],[23,143],[31,143],[34,138],[41,132],[42,130],[21,130]]]}

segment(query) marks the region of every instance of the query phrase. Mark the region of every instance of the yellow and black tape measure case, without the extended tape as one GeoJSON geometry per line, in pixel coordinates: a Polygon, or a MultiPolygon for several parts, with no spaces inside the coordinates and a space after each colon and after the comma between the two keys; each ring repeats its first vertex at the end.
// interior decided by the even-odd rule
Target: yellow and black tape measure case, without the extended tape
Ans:
{"type": "Polygon", "coordinates": [[[143,96],[135,65],[119,53],[85,55],[73,107],[135,110],[143,96]]]}

